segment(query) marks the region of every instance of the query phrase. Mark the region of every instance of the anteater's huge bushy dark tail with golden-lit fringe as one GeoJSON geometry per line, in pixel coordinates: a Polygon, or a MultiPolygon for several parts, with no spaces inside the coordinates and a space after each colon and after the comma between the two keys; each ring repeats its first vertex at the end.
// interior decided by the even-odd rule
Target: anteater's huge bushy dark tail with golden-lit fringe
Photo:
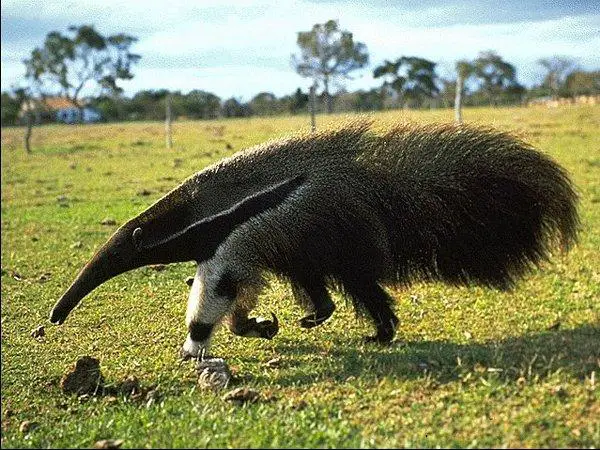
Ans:
{"type": "Polygon", "coordinates": [[[508,133],[402,125],[371,139],[359,160],[386,181],[378,195],[392,218],[401,282],[509,288],[554,246],[576,240],[577,194],[567,173],[508,133]]]}

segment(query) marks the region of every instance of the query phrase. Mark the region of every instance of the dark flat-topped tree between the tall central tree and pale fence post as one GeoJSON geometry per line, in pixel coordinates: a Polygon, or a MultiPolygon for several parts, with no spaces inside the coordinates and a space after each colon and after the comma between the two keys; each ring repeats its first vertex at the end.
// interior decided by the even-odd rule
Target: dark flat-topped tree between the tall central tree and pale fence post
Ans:
{"type": "Polygon", "coordinates": [[[398,105],[406,101],[421,106],[425,98],[439,94],[436,85],[436,63],[416,56],[402,56],[395,62],[385,61],[373,71],[374,78],[384,78],[383,89],[391,88],[398,96],[398,105]]]}

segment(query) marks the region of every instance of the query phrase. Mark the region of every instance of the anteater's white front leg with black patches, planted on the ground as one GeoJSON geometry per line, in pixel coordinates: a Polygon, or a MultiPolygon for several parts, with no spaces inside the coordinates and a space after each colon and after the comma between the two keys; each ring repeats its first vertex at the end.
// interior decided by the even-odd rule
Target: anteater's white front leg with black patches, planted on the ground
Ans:
{"type": "Polygon", "coordinates": [[[208,263],[198,265],[188,298],[183,359],[196,358],[208,350],[215,326],[232,309],[235,297],[236,282],[229,272],[208,263]]]}

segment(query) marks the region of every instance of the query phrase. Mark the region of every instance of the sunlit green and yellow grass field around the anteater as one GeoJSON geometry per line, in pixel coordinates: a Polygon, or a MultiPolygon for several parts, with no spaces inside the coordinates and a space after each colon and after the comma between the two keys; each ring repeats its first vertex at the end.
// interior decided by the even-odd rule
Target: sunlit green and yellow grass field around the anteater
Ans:
{"type": "MultiPolygon", "coordinates": [[[[452,112],[374,117],[448,121],[452,112]]],[[[200,390],[193,363],[178,360],[191,263],[121,275],[63,326],[47,318],[119,224],[207,164],[308,118],[176,122],[172,150],[158,122],[36,128],[31,155],[22,129],[3,129],[2,447],[108,438],[123,447],[598,447],[600,108],[471,109],[465,119],[512,130],[569,170],[581,194],[579,244],[510,293],[392,291],[401,325],[389,347],[364,344],[370,325],[343,301],[323,326],[300,329],[289,286],[273,279],[258,312],[277,313],[279,335],[221,329],[213,339],[235,386],[261,393],[244,406],[200,390]],[[39,325],[46,335],[34,339],[39,325]],[[133,375],[155,400],[63,394],[62,375],[83,355],[100,360],[107,384],[133,375]],[[273,358],[279,365],[266,364],[273,358]]]]}

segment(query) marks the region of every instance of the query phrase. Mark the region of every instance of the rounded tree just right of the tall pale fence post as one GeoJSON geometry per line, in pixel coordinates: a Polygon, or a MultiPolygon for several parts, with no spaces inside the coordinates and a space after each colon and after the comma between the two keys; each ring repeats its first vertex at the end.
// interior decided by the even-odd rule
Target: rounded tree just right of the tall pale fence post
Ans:
{"type": "Polygon", "coordinates": [[[498,104],[503,93],[522,90],[515,67],[493,51],[480,53],[473,68],[490,104],[498,104]]]}

